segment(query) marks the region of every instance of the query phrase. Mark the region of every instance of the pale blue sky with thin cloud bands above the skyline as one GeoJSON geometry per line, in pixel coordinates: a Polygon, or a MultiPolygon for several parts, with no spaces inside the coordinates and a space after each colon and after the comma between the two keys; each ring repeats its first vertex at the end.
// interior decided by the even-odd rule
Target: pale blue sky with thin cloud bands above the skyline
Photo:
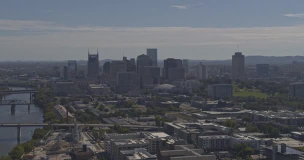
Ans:
{"type": "Polygon", "coordinates": [[[0,0],[0,60],[304,53],[304,0],[0,0]]]}

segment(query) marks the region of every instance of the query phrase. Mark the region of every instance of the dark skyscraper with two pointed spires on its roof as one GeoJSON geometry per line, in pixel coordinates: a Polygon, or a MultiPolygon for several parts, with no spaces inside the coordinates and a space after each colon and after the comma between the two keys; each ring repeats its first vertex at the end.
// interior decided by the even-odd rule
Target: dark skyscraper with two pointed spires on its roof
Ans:
{"type": "Polygon", "coordinates": [[[99,76],[99,57],[98,49],[97,54],[89,54],[88,51],[87,60],[87,77],[98,77],[99,76]]]}

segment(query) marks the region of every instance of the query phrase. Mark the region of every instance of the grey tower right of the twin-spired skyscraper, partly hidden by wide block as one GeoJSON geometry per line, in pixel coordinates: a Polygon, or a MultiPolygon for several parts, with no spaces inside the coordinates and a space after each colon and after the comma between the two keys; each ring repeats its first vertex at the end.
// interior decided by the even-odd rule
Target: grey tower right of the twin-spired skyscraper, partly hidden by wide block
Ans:
{"type": "Polygon", "coordinates": [[[126,64],[122,60],[113,60],[110,63],[110,81],[111,84],[117,83],[117,73],[126,72],[126,64]]]}

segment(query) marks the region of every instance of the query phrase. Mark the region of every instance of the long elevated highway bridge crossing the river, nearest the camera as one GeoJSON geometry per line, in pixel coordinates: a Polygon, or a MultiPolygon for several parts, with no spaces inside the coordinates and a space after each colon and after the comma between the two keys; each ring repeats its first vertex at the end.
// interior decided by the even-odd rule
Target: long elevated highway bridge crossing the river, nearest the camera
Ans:
{"type": "MultiPolygon", "coordinates": [[[[75,126],[75,123],[0,123],[0,127],[25,127],[25,126],[75,126]]],[[[77,126],[93,126],[93,127],[113,127],[114,124],[85,124],[85,123],[77,123],[77,126]]],[[[128,128],[161,128],[158,126],[149,126],[149,125],[131,125],[131,124],[120,124],[121,127],[128,127],[128,128]]]]}

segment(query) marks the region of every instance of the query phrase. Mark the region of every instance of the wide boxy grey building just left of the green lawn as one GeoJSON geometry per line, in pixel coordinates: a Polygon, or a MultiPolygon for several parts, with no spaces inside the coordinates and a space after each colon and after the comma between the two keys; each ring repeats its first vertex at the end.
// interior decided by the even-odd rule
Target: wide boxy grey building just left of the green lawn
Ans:
{"type": "Polygon", "coordinates": [[[208,96],[215,98],[231,98],[232,84],[210,84],[208,85],[208,96]]]}

